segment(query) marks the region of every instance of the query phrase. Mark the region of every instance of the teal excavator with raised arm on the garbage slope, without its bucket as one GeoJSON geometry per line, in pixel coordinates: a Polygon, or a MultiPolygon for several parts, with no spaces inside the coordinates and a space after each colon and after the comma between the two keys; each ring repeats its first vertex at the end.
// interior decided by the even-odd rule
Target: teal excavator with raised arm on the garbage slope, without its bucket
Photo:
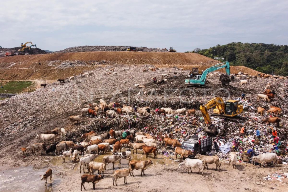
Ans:
{"type": "Polygon", "coordinates": [[[186,85],[202,85],[205,86],[205,81],[208,73],[212,71],[216,71],[219,69],[226,69],[226,74],[230,76],[230,65],[228,61],[225,61],[223,63],[219,63],[217,65],[214,65],[212,67],[209,67],[205,69],[202,73],[202,75],[196,75],[193,79],[185,79],[185,84],[186,85]]]}

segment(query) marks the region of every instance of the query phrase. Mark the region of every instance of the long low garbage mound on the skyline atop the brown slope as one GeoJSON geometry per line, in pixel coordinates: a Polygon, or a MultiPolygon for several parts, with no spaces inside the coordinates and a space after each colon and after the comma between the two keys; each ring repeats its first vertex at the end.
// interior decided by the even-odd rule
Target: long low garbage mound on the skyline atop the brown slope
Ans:
{"type": "MultiPolygon", "coordinates": [[[[56,51],[54,53],[71,53],[71,52],[88,52],[88,51],[127,51],[130,46],[78,46],[69,47],[65,50],[56,51]]],[[[169,52],[166,48],[147,48],[136,47],[137,51],[141,52],[169,52]]]]}

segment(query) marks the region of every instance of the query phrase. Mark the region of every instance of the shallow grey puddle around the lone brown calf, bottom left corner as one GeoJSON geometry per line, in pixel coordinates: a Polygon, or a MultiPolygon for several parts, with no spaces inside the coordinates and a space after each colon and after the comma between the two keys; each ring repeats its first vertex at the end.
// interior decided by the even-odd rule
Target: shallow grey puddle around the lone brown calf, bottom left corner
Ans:
{"type": "Polygon", "coordinates": [[[45,191],[52,192],[53,188],[60,184],[59,176],[53,173],[52,181],[50,177],[45,181],[41,181],[39,175],[43,175],[47,169],[33,169],[33,166],[20,167],[15,169],[1,170],[0,171],[0,191],[45,191]]]}

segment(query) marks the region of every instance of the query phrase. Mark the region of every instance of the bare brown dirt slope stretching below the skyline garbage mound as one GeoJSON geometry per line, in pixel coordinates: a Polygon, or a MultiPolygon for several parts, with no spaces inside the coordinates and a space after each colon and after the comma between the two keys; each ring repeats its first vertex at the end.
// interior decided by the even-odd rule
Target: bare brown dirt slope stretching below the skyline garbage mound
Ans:
{"type": "MultiPolygon", "coordinates": [[[[177,66],[204,70],[219,61],[196,53],[169,52],[77,52],[19,55],[0,58],[0,78],[4,80],[58,79],[79,75],[103,65],[149,65],[160,68],[177,66]],[[41,64],[39,64],[39,62],[41,64]]],[[[244,66],[231,67],[231,73],[259,72],[244,66]]]]}

